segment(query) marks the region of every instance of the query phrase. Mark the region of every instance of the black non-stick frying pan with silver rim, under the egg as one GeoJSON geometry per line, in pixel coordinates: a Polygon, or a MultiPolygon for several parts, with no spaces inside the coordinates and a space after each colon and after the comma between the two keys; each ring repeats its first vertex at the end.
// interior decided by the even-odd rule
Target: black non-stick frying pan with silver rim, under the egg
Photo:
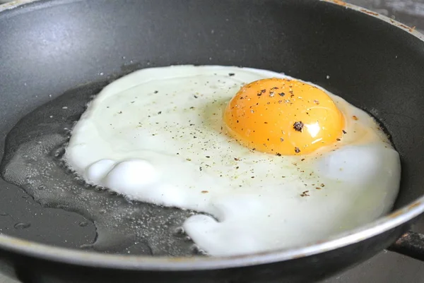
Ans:
{"type": "Polygon", "coordinates": [[[422,35],[342,1],[40,0],[1,6],[1,272],[26,283],[316,282],[389,246],[423,260],[421,236],[408,232],[424,211],[423,77],[422,35]],[[57,161],[63,153],[58,143],[66,142],[92,95],[136,69],[172,64],[282,71],[370,112],[401,154],[394,211],[354,231],[283,251],[228,258],[151,256],[172,249],[165,241],[155,248],[148,243],[167,233],[140,239],[125,226],[136,217],[127,217],[105,241],[102,220],[116,212],[107,205],[95,219],[89,212],[108,198],[141,218],[178,215],[176,209],[131,204],[75,180],[54,190],[35,188],[32,175],[20,176],[45,162],[40,152],[48,152],[57,166],[37,176],[69,181],[57,161]],[[53,130],[59,136],[51,136],[53,130]],[[33,150],[25,147],[35,141],[39,146],[33,150]],[[31,166],[19,163],[24,147],[38,158],[31,166]],[[88,208],[77,205],[79,195],[87,196],[88,208]]]}

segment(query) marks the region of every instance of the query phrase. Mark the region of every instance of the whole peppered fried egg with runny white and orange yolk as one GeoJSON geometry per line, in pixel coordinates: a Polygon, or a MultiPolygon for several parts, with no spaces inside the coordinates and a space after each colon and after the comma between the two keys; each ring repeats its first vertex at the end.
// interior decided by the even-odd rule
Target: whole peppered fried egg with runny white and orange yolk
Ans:
{"type": "Polygon", "coordinates": [[[312,83],[231,66],[146,68],[107,85],[66,162],[88,183],[195,210],[209,255],[321,241],[391,209],[400,161],[367,113],[312,83]]]}

